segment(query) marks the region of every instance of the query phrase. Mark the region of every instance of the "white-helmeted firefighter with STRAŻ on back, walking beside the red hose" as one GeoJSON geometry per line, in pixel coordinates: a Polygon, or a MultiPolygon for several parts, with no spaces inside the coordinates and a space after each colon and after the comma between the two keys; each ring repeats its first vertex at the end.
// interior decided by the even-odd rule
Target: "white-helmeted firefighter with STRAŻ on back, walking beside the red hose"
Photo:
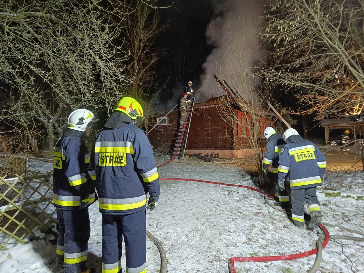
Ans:
{"type": "Polygon", "coordinates": [[[284,132],[283,139],[287,144],[279,156],[278,184],[284,189],[285,176],[289,171],[293,223],[301,228],[305,226],[304,201],[306,201],[311,216],[308,227],[314,229],[322,219],[316,187],[321,186],[324,181],[325,156],[316,145],[302,139],[293,128],[284,132]]]}

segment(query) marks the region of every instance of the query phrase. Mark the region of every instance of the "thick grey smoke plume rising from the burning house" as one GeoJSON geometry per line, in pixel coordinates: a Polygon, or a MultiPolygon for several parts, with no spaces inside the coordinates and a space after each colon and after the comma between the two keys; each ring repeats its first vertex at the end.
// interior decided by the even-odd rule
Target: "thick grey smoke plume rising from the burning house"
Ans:
{"type": "Polygon", "coordinates": [[[199,101],[209,99],[213,94],[221,95],[221,90],[213,78],[215,74],[236,88],[243,98],[252,97],[252,94],[248,93],[256,88],[257,78],[252,77],[251,67],[259,63],[261,58],[260,41],[256,32],[260,31],[258,21],[264,2],[213,1],[214,16],[206,29],[206,37],[214,49],[203,64],[204,73],[198,84],[203,92],[199,101]],[[237,56],[242,57],[242,54],[244,58],[239,60],[237,56]]]}

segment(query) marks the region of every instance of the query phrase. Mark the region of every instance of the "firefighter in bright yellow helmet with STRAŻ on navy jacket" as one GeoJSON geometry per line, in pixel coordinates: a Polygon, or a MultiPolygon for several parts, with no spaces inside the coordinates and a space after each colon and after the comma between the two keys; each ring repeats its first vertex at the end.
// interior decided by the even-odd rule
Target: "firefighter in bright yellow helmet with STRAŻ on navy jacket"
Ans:
{"type": "Polygon", "coordinates": [[[102,213],[102,273],[121,272],[125,240],[126,272],[146,272],[147,209],[157,206],[159,175],[144,132],[135,127],[143,109],[124,97],[96,137],[89,173],[95,179],[102,213]]]}

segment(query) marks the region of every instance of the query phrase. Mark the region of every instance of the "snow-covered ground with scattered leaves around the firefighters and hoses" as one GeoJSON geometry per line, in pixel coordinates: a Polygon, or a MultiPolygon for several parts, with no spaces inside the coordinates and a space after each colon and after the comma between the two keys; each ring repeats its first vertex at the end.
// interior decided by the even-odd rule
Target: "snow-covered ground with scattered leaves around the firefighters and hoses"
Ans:
{"type": "MultiPolygon", "coordinates": [[[[156,160],[162,164],[169,159],[157,155],[156,160]]],[[[229,163],[187,158],[158,171],[162,178],[254,187],[243,169],[229,163]]],[[[201,182],[161,181],[161,192],[158,207],[147,212],[147,229],[162,242],[169,273],[227,273],[230,257],[296,254],[315,248],[316,233],[297,229],[286,215],[266,205],[255,191],[201,182]]],[[[328,173],[325,186],[318,189],[318,197],[324,212],[323,222],[364,232],[364,173],[328,173]]],[[[90,207],[90,220],[88,262],[96,267],[96,272],[101,272],[101,214],[97,204],[90,207]]],[[[332,235],[357,236],[333,227],[328,230],[332,235]]],[[[0,272],[61,273],[62,269],[53,262],[55,246],[46,241],[0,251],[0,272]]],[[[353,262],[353,272],[364,272],[364,243],[343,243],[344,253],[353,262]]],[[[314,260],[315,256],[293,261],[237,262],[235,267],[238,273],[306,272],[314,260]]],[[[159,266],[157,247],[147,240],[147,272],[159,272],[159,266]]],[[[341,253],[339,244],[329,241],[317,272],[352,272],[351,262],[341,253]]]]}

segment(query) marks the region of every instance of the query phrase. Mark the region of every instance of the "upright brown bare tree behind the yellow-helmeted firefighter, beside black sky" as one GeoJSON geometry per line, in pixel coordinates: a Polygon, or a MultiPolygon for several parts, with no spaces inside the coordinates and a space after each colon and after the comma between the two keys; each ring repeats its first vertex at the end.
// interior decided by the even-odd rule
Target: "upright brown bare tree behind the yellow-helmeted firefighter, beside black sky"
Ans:
{"type": "MultiPolygon", "coordinates": [[[[117,28],[120,42],[128,49],[130,58],[125,72],[132,83],[123,89],[126,94],[137,99],[147,100],[154,91],[154,78],[158,76],[155,65],[162,56],[158,38],[165,28],[161,22],[161,12],[141,1],[128,1],[134,12],[125,15],[117,28]]],[[[154,2],[156,5],[157,1],[154,2]]],[[[115,17],[113,17],[115,19],[115,17]]]]}

